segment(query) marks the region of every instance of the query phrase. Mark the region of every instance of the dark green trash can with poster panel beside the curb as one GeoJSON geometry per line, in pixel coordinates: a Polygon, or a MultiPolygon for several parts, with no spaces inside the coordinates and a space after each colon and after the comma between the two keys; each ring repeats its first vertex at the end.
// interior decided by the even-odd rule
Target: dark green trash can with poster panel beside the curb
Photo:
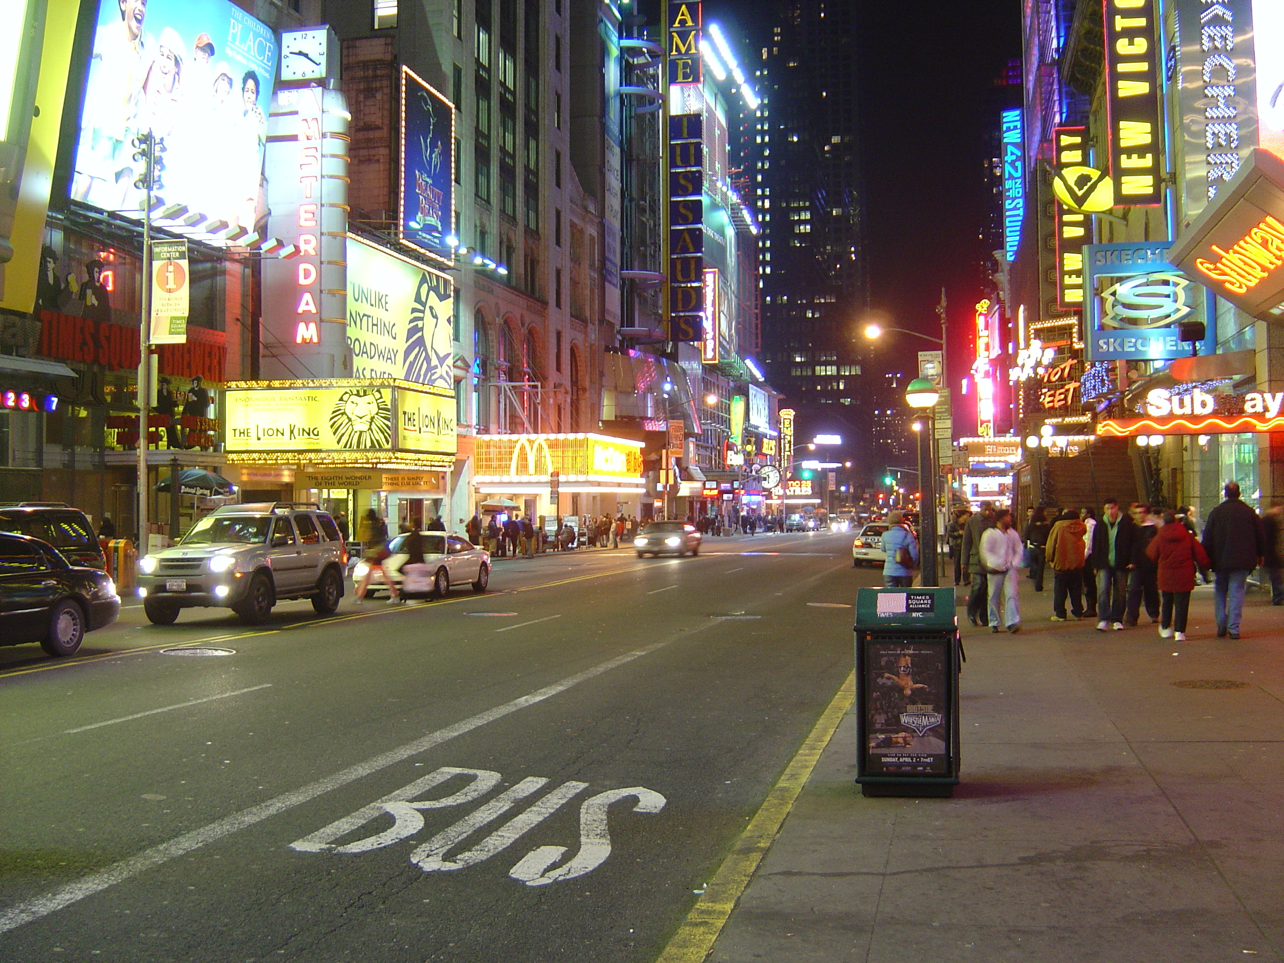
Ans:
{"type": "Polygon", "coordinates": [[[959,782],[954,589],[856,592],[856,782],[865,796],[951,796],[959,782]]]}

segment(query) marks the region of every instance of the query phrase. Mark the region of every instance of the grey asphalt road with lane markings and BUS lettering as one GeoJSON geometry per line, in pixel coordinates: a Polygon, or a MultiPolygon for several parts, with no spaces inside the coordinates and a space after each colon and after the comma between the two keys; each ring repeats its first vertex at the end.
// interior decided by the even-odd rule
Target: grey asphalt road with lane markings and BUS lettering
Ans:
{"type": "Polygon", "coordinates": [[[877,579],[850,535],[722,538],[0,648],[0,959],[652,960],[877,579]],[[198,643],[234,654],[160,652],[198,643]]]}

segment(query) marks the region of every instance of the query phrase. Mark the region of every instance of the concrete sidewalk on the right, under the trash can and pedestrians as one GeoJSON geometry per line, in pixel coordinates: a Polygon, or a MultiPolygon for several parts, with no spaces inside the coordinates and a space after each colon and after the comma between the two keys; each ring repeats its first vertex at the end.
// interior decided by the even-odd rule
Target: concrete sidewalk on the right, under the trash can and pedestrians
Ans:
{"type": "Polygon", "coordinates": [[[962,785],[865,799],[849,714],[722,931],[716,963],[1284,959],[1284,609],[1243,638],[963,619],[962,785]],[[1192,688],[1219,679],[1239,688],[1192,688]]]}

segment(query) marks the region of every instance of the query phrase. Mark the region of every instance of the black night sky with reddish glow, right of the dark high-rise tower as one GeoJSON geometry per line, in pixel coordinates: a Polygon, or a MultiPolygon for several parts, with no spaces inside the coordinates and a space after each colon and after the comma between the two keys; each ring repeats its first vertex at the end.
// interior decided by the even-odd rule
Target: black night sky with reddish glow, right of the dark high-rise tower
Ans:
{"type": "MultiPolygon", "coordinates": [[[[871,307],[895,326],[937,335],[935,308],[944,285],[957,380],[967,367],[972,307],[982,293],[977,234],[994,203],[982,180],[985,135],[999,122],[994,80],[1021,56],[1019,0],[836,1],[860,3],[865,24],[858,86],[871,307]]],[[[742,39],[747,60],[777,5],[706,0],[704,14],[706,22],[729,27],[729,37],[742,39]]],[[[853,306],[854,331],[863,315],[853,306]]],[[[907,351],[931,347],[901,335],[886,349],[867,348],[867,374],[887,370],[892,354],[904,358],[907,351]]]]}

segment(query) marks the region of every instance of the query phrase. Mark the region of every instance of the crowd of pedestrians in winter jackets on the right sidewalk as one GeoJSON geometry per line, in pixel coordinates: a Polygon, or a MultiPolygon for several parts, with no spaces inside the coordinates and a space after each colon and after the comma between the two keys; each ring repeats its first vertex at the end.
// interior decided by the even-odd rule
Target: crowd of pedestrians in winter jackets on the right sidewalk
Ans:
{"type": "MultiPolygon", "coordinates": [[[[1217,636],[1239,638],[1254,569],[1265,570],[1271,603],[1284,605],[1284,501],[1258,515],[1238,483],[1228,482],[1224,494],[1202,532],[1190,506],[1156,512],[1141,502],[1125,508],[1115,498],[1102,505],[1100,517],[1086,507],[1027,510],[1019,532],[1012,512],[991,502],[975,514],[959,511],[945,534],[954,584],[968,588],[968,621],[1018,632],[1018,573],[1043,592],[1052,569],[1053,621],[1094,619],[1098,632],[1118,632],[1138,625],[1144,610],[1161,637],[1183,641],[1190,593],[1203,579],[1213,586],[1217,636]]],[[[890,561],[883,570],[898,579],[913,574],[890,561]]]]}

